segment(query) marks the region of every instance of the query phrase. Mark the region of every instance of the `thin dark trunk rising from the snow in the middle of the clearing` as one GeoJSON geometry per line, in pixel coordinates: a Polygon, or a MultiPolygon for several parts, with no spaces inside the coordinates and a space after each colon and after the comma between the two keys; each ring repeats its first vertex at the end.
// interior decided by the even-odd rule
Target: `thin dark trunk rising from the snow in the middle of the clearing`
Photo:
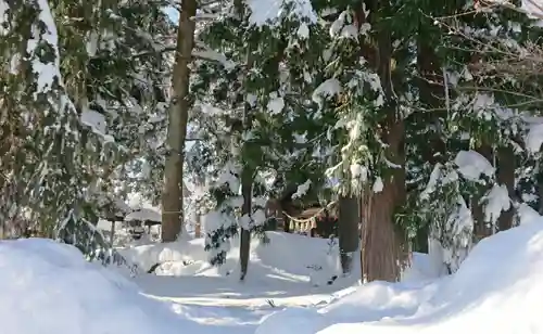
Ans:
{"type": "MultiPolygon", "coordinates": [[[[249,167],[243,167],[241,174],[241,194],[243,196],[243,207],[241,208],[242,216],[251,216],[251,202],[253,196],[253,176],[249,167]]],[[[240,233],[239,259],[241,267],[240,280],[245,279],[249,268],[249,256],[251,251],[251,231],[241,227],[240,233]]]]}

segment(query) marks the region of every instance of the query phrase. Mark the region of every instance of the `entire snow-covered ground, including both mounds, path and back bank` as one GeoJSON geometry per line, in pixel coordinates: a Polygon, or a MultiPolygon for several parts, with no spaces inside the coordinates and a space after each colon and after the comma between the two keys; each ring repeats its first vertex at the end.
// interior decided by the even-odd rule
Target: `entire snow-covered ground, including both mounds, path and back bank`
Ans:
{"type": "Polygon", "coordinates": [[[220,269],[202,240],[122,249],[142,271],[129,278],[51,241],[0,242],[0,322],[14,334],[543,333],[541,218],[482,241],[452,277],[430,278],[427,256],[415,254],[396,284],[329,285],[336,247],[270,240],[253,242],[244,283],[236,245],[220,269]]]}

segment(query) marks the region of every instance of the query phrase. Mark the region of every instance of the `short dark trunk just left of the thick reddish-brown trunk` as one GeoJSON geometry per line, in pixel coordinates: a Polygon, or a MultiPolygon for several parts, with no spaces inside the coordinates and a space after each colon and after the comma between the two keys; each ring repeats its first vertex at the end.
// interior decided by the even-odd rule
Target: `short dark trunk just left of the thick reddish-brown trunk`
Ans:
{"type": "Polygon", "coordinates": [[[339,198],[339,222],[338,236],[340,247],[340,260],[343,274],[349,274],[353,267],[353,255],[358,248],[358,198],[339,198]]]}

